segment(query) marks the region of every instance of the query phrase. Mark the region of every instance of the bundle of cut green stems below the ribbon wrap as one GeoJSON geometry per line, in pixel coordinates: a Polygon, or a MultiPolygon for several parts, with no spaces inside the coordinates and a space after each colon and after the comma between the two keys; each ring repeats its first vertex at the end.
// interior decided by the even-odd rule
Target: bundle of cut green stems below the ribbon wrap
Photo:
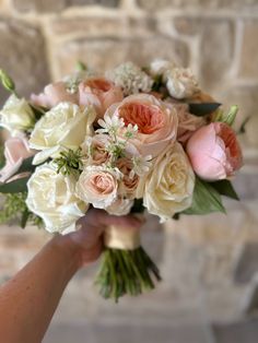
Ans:
{"type": "Polygon", "coordinates": [[[142,247],[134,250],[106,248],[95,284],[99,294],[116,303],[129,294],[137,296],[143,291],[155,288],[155,281],[161,281],[157,267],[142,247]]]}

